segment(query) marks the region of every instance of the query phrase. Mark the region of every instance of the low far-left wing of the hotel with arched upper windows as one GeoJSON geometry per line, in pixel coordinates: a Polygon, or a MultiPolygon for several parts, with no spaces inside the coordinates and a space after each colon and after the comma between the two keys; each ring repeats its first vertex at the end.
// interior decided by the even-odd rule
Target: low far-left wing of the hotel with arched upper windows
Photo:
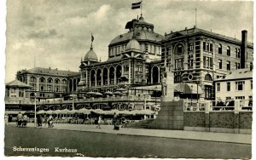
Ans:
{"type": "Polygon", "coordinates": [[[35,67],[17,71],[17,80],[32,86],[28,90],[33,100],[35,93],[38,100],[55,99],[76,92],[80,81],[79,72],[35,67]]]}

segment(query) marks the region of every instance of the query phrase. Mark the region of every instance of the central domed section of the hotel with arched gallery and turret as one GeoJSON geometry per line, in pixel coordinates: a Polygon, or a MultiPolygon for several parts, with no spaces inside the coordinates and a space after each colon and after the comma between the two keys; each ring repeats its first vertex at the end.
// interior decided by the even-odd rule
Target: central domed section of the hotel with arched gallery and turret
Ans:
{"type": "Polygon", "coordinates": [[[127,22],[129,31],[108,45],[108,60],[100,62],[92,46],[81,60],[79,89],[105,93],[119,88],[160,84],[160,41],[154,25],[143,17],[127,22]]]}

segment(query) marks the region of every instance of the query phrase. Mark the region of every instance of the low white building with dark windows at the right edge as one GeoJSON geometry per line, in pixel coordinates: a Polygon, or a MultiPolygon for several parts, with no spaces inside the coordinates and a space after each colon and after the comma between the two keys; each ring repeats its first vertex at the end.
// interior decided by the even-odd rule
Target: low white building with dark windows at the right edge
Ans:
{"type": "Polygon", "coordinates": [[[253,100],[253,70],[246,68],[232,71],[214,83],[216,100],[253,100]]]}

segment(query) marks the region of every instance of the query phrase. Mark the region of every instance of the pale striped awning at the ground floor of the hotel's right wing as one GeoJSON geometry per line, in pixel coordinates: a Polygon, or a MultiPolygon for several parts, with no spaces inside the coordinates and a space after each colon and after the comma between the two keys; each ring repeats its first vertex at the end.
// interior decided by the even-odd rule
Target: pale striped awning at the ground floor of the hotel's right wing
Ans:
{"type": "Polygon", "coordinates": [[[202,90],[200,85],[197,86],[196,83],[177,83],[174,92],[183,92],[184,94],[201,94],[202,90]],[[184,87],[184,89],[183,89],[184,87]]]}

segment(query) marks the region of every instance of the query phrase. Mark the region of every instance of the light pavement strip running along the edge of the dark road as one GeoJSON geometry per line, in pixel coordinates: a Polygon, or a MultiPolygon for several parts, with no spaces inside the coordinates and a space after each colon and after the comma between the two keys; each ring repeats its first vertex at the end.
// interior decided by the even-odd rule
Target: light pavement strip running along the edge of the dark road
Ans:
{"type": "MultiPolygon", "coordinates": [[[[9,123],[8,125],[16,125],[9,123]]],[[[34,123],[27,123],[27,127],[34,127],[34,123]]],[[[230,134],[230,133],[213,133],[213,132],[199,132],[199,131],[186,131],[186,130],[165,130],[165,129],[130,129],[120,128],[114,130],[113,125],[101,125],[101,129],[93,124],[70,124],[70,123],[55,123],[54,128],[44,127],[43,129],[65,129],[76,130],[83,132],[96,132],[106,134],[125,134],[135,136],[149,136],[149,137],[163,137],[180,140],[203,140],[215,141],[225,143],[237,144],[252,144],[252,134],[230,134]]]]}

